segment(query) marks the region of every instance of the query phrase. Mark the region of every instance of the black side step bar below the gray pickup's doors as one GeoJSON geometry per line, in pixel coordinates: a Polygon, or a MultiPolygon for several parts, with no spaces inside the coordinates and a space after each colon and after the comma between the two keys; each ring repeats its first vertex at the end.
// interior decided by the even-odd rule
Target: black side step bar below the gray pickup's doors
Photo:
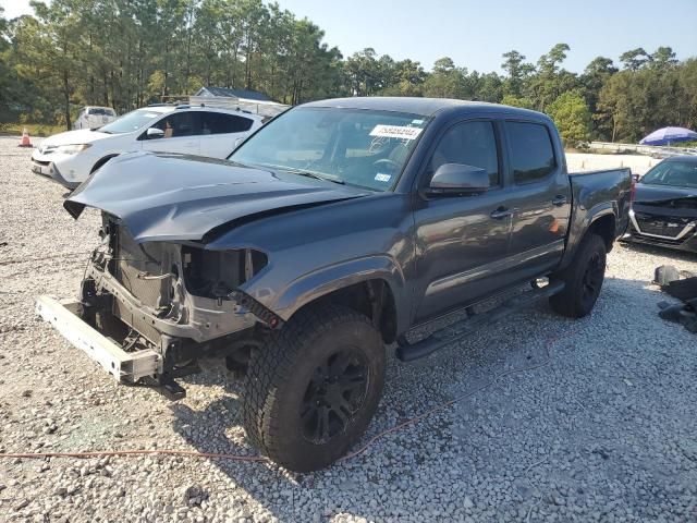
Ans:
{"type": "Polygon", "coordinates": [[[466,335],[485,325],[498,321],[499,319],[504,318],[505,316],[515,313],[516,311],[535,303],[542,297],[553,296],[563,290],[563,281],[550,281],[546,287],[521,293],[491,311],[475,314],[466,319],[449,325],[442,330],[438,330],[416,343],[408,343],[406,339],[403,339],[400,341],[400,346],[396,350],[396,357],[403,362],[413,362],[414,360],[426,357],[456,340],[462,335],[466,335]],[[454,333],[449,333],[451,331],[454,331],[454,333]]]}

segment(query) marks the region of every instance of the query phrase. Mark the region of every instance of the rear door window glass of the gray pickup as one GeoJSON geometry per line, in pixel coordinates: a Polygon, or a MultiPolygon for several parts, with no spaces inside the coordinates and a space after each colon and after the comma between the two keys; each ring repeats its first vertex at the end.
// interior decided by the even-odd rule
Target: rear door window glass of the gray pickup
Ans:
{"type": "Polygon", "coordinates": [[[506,122],[505,126],[515,183],[534,183],[554,171],[557,168],[554,147],[546,125],[506,122]]]}

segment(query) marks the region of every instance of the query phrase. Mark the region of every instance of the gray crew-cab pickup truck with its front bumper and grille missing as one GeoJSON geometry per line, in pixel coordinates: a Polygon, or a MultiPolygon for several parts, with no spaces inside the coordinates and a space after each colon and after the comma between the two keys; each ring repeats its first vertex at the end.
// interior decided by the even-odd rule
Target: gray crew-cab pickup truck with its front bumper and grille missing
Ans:
{"type": "Polygon", "coordinates": [[[570,175],[538,112],[317,101],[228,160],[109,161],[64,203],[102,216],[80,300],[40,296],[37,311],[120,381],[174,398],[178,378],[221,353],[245,380],[252,442],[311,471],[368,427],[386,345],[412,361],[449,342],[414,341],[415,327],[460,309],[466,331],[540,297],[587,315],[631,199],[627,169],[570,175]],[[504,291],[514,297],[473,313],[504,291]]]}

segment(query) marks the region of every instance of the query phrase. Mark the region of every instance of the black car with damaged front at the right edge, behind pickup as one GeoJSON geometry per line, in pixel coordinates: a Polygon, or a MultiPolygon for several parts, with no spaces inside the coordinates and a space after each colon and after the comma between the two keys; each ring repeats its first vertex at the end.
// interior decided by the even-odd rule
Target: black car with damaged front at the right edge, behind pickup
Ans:
{"type": "Polygon", "coordinates": [[[697,253],[697,156],[661,161],[636,184],[626,240],[697,253]]]}

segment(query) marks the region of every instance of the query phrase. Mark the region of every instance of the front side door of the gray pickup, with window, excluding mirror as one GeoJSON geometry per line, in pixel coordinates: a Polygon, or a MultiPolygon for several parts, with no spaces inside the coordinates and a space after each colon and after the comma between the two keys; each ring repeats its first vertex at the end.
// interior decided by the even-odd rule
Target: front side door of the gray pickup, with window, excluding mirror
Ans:
{"type": "Polygon", "coordinates": [[[512,214],[503,186],[501,146],[492,121],[460,122],[438,142],[419,186],[443,163],[486,169],[490,188],[476,195],[415,196],[416,321],[487,293],[508,253],[512,214]]]}

